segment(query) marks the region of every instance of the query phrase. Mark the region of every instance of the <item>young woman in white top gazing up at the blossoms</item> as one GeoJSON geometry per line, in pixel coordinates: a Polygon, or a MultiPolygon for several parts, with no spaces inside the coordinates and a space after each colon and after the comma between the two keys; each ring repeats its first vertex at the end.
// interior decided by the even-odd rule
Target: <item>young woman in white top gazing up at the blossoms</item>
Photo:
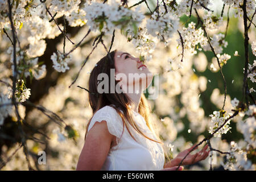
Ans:
{"type": "MultiPolygon", "coordinates": [[[[193,147],[165,162],[163,142],[152,129],[142,94],[151,81],[146,65],[127,52],[115,49],[98,61],[89,78],[93,117],[86,126],[77,170],[176,170],[193,147]]],[[[182,165],[207,158],[207,148],[189,154],[182,165]]]]}

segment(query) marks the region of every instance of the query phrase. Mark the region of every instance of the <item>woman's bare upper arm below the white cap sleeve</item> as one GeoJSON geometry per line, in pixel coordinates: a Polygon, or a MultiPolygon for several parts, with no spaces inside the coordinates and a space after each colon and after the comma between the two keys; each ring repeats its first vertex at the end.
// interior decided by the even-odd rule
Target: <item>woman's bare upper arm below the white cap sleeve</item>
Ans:
{"type": "Polygon", "coordinates": [[[100,170],[108,156],[113,138],[106,121],[94,123],[85,138],[76,169],[100,170]]]}

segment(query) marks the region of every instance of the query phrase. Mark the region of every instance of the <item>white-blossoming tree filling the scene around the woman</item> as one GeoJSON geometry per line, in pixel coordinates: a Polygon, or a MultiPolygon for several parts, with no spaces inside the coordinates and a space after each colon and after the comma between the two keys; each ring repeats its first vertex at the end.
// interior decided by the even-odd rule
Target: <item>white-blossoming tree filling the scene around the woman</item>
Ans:
{"type": "MultiPolygon", "coordinates": [[[[156,130],[171,157],[189,142],[197,142],[193,149],[207,142],[209,166],[202,162],[203,167],[192,169],[221,165],[254,170],[256,106],[250,85],[255,82],[256,2],[220,2],[221,12],[212,10],[217,2],[210,0],[0,0],[0,168],[75,169],[84,121],[92,113],[88,96],[74,84],[84,84],[90,71],[83,70],[97,66],[114,42],[123,39],[128,45],[123,48],[134,50],[159,73],[159,96],[149,101],[155,108],[151,115],[156,130]],[[243,44],[236,45],[243,55],[224,52],[229,19],[238,22],[235,28],[243,34],[243,44]],[[81,63],[82,57],[86,58],[81,63]],[[238,68],[243,76],[231,100],[222,70],[236,57],[243,63],[238,68]],[[201,74],[206,69],[216,81],[220,75],[224,94],[214,88],[201,100],[207,84],[214,81],[201,74]],[[202,107],[202,101],[214,109],[202,107]],[[227,142],[224,135],[235,129],[241,139],[227,142]],[[196,140],[184,138],[184,131],[196,140]],[[39,164],[39,151],[49,154],[46,165],[39,164]]],[[[233,77],[232,84],[236,81],[233,77]]]]}

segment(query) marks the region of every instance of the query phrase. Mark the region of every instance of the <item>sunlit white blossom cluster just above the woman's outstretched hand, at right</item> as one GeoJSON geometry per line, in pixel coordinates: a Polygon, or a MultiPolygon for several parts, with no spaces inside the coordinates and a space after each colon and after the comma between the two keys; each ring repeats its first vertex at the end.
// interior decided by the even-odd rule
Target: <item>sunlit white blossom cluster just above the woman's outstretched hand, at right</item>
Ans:
{"type": "MultiPolygon", "coordinates": [[[[219,127],[221,127],[224,123],[225,120],[228,119],[232,114],[227,114],[225,110],[220,110],[220,111],[214,111],[213,114],[210,114],[209,116],[211,117],[210,119],[210,126],[209,126],[209,133],[213,134],[214,131],[216,131],[219,127]]],[[[221,127],[220,130],[218,130],[216,133],[214,133],[214,137],[221,137],[221,134],[226,134],[231,127],[230,125],[230,119],[225,123],[224,126],[221,127]]]]}

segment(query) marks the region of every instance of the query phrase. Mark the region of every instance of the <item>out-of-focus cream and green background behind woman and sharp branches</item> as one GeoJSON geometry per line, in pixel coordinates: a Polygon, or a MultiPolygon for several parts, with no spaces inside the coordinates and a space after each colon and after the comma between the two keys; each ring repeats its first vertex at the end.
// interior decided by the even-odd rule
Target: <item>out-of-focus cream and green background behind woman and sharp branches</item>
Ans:
{"type": "MultiPolygon", "coordinates": [[[[135,1],[129,1],[129,5],[133,5],[135,1]]],[[[149,6],[153,9],[156,5],[155,1],[149,1],[149,6]]],[[[142,10],[147,11],[146,6],[141,5],[142,10]]],[[[220,16],[222,1],[214,1],[212,9],[216,10],[216,15],[220,16]],[[219,10],[220,9],[220,10],[219,10]]],[[[209,35],[222,33],[225,34],[227,23],[227,10],[224,11],[224,21],[217,31],[209,31],[209,35]]],[[[243,84],[243,68],[245,65],[245,48],[243,46],[243,20],[241,17],[234,18],[233,10],[230,9],[229,27],[225,41],[228,45],[223,48],[223,53],[231,56],[231,59],[222,67],[226,79],[227,97],[225,110],[232,113],[232,105],[230,101],[235,97],[238,100],[242,98],[243,84]],[[238,56],[234,56],[238,51],[238,56]]],[[[204,11],[200,11],[203,15],[204,11]]],[[[255,19],[255,18],[254,18],[255,19]]],[[[180,27],[188,26],[188,23],[197,23],[194,14],[188,19],[187,16],[180,18],[180,27]]],[[[63,24],[63,17],[57,18],[59,24],[63,24]]],[[[254,23],[255,20],[254,20],[254,23]]],[[[26,25],[20,29],[18,36],[20,41],[28,36],[26,25]]],[[[79,27],[71,27],[67,24],[67,34],[73,42],[79,42],[88,31],[86,25],[79,27]]],[[[33,137],[39,138],[44,143],[36,142],[36,140],[28,139],[28,160],[34,169],[39,170],[75,170],[76,164],[84,144],[85,126],[92,117],[92,109],[88,102],[88,92],[77,88],[77,85],[88,88],[88,79],[91,69],[95,66],[101,57],[106,55],[104,47],[99,46],[90,55],[85,67],[74,85],[68,86],[74,80],[77,72],[81,68],[85,57],[92,50],[93,40],[97,36],[97,32],[91,32],[82,42],[81,46],[72,52],[72,61],[68,64],[69,70],[65,73],[55,71],[52,67],[51,55],[57,50],[63,50],[63,35],[57,35],[55,38],[46,38],[47,47],[39,62],[42,61],[46,65],[46,74],[40,79],[26,78],[26,86],[31,89],[29,101],[39,104],[58,114],[67,125],[72,126],[72,131],[60,127],[38,109],[31,106],[19,105],[19,111],[22,118],[26,119],[30,127],[26,128],[27,134],[32,134],[31,128],[40,130],[46,134],[49,139],[40,134],[32,134],[33,137]],[[46,152],[46,164],[38,164],[38,153],[46,152]]],[[[251,26],[249,30],[249,43],[256,41],[256,28],[251,26]]],[[[104,36],[104,43],[110,46],[112,36],[104,36]]],[[[152,53],[152,59],[146,62],[147,67],[152,73],[159,75],[159,85],[154,85],[159,90],[158,97],[155,100],[148,100],[151,106],[151,118],[155,125],[155,130],[159,133],[160,138],[165,143],[166,150],[172,157],[175,157],[179,151],[185,150],[199,142],[209,135],[209,114],[213,111],[221,110],[224,101],[224,81],[218,69],[217,61],[214,59],[212,52],[197,51],[196,55],[185,54],[183,68],[173,72],[166,72],[169,67],[168,59],[177,56],[177,42],[179,34],[174,34],[173,42],[165,47],[164,43],[159,42],[152,53]],[[214,68],[210,68],[213,64],[214,68]],[[169,148],[169,144],[173,148],[169,148]]],[[[7,49],[11,46],[10,40],[1,32],[0,34],[0,79],[11,83],[11,63],[10,55],[7,49]]],[[[73,45],[66,41],[67,52],[73,48],[73,45]]],[[[115,39],[113,48],[120,51],[129,52],[135,56],[139,56],[135,47],[131,42],[127,42],[125,36],[121,35],[119,30],[115,31],[115,39]]],[[[180,49],[180,47],[179,47],[180,49]]],[[[249,60],[253,64],[255,56],[251,53],[249,45],[249,60]]],[[[249,89],[253,88],[253,82],[249,82],[249,89]]],[[[153,84],[154,82],[152,82],[153,84]]],[[[255,85],[254,85],[255,86],[255,85]]],[[[147,90],[145,90],[147,91],[147,90]]],[[[8,88],[0,82],[0,92],[7,93],[8,88]]],[[[146,97],[148,92],[144,93],[146,97]]],[[[255,92],[252,92],[255,98],[255,92]]],[[[221,138],[213,137],[210,142],[213,148],[221,151],[229,150],[229,143],[236,141],[240,146],[246,146],[243,136],[237,128],[237,122],[240,116],[235,117],[230,126],[232,129],[221,138]]],[[[1,136],[8,134],[13,136],[14,140],[0,140],[1,160],[9,162],[2,170],[27,170],[28,164],[23,148],[20,148],[14,156],[9,158],[16,150],[19,144],[15,141],[18,133],[18,125],[14,121],[14,117],[10,116],[5,119],[0,128],[1,136]]],[[[203,146],[199,147],[202,148],[203,146]]],[[[222,170],[221,162],[223,156],[213,152],[213,169],[222,170]]],[[[209,157],[192,166],[185,166],[185,170],[208,170],[209,157]]]]}

